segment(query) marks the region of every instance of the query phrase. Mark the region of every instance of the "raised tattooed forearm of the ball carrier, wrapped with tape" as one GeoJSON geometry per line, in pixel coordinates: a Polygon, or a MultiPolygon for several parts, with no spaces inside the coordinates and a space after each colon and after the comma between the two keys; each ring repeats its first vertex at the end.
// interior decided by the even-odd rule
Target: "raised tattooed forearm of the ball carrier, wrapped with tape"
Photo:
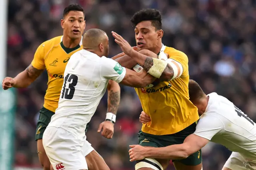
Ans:
{"type": "Polygon", "coordinates": [[[160,73],[159,76],[156,77],[159,78],[161,81],[170,81],[174,76],[172,66],[167,61],[156,58],[153,59],[152,57],[147,55],[147,50],[140,51],[140,53],[132,50],[130,53],[130,57],[134,59],[137,63],[142,65],[144,70],[146,70],[149,74],[155,77],[156,75],[152,74],[152,71],[150,71],[151,67],[154,65],[154,67],[156,67],[154,69],[156,69],[157,72],[162,69],[162,71],[160,71],[162,73],[160,73]]]}

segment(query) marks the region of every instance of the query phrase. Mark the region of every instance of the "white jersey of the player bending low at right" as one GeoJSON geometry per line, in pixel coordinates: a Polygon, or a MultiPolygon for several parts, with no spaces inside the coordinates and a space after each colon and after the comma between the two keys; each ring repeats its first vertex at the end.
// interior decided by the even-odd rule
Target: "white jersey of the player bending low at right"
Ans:
{"type": "Polygon", "coordinates": [[[256,127],[232,102],[210,93],[205,113],[194,134],[239,152],[246,160],[256,160],[256,127]]]}

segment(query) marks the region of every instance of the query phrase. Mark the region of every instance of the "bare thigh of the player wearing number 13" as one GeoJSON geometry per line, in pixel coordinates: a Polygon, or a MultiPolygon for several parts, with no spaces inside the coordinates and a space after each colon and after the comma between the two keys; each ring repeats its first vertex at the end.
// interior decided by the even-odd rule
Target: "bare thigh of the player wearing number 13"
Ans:
{"type": "Polygon", "coordinates": [[[104,159],[96,150],[86,155],[85,159],[89,170],[110,170],[104,159]]]}

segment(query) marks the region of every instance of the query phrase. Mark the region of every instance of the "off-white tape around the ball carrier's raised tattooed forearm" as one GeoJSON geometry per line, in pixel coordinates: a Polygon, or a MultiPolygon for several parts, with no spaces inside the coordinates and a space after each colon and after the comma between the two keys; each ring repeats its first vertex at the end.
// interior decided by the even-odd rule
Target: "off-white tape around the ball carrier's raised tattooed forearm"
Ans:
{"type": "Polygon", "coordinates": [[[157,58],[152,58],[152,59],[153,59],[153,66],[148,70],[148,74],[156,78],[160,78],[160,76],[162,75],[168,63],[162,59],[157,59],[157,58]]]}

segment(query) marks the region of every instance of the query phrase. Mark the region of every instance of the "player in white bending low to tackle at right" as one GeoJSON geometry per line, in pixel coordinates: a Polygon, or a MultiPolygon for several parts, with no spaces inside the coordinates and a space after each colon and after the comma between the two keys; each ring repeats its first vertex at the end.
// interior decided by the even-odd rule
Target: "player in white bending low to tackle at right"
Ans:
{"type": "MultiPolygon", "coordinates": [[[[217,93],[206,95],[198,83],[189,81],[189,96],[201,115],[196,131],[176,144],[162,148],[131,145],[130,161],[144,158],[182,159],[200,150],[209,141],[222,144],[232,151],[222,170],[256,170],[256,127],[232,102],[217,93]]],[[[150,117],[142,112],[140,121],[150,117]]]]}

